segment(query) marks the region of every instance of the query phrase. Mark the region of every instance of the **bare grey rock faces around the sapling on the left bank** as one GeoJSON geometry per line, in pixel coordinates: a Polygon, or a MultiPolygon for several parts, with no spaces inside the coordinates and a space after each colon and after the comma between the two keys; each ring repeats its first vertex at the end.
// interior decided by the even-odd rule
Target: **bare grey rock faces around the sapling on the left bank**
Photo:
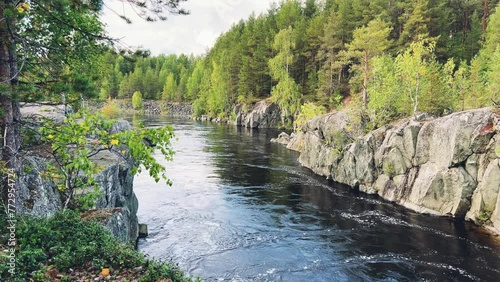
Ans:
{"type": "MultiPolygon", "coordinates": [[[[118,121],[112,132],[131,128],[127,121],[118,121]]],[[[19,214],[50,216],[63,207],[61,196],[54,182],[43,177],[50,156],[44,148],[30,152],[21,158],[21,172],[17,187],[16,211],[19,214]]],[[[96,219],[122,241],[133,242],[138,237],[138,201],[133,192],[132,160],[118,154],[103,151],[93,156],[102,169],[94,177],[100,189],[96,201],[96,219]],[[103,217],[103,215],[106,215],[103,217]]],[[[91,217],[91,216],[89,216],[91,217]]]]}

